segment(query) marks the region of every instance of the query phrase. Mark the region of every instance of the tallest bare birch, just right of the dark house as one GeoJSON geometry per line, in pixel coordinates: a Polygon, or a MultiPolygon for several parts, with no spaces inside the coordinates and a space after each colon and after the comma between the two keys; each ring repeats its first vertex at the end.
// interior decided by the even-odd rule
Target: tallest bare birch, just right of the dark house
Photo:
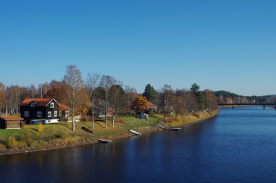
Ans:
{"type": "Polygon", "coordinates": [[[78,93],[83,87],[83,80],[81,77],[81,71],[76,65],[67,66],[66,75],[64,75],[63,81],[68,85],[68,94],[70,98],[70,107],[72,109],[72,130],[75,131],[75,119],[74,116],[77,115],[77,101],[79,99],[78,93]]]}

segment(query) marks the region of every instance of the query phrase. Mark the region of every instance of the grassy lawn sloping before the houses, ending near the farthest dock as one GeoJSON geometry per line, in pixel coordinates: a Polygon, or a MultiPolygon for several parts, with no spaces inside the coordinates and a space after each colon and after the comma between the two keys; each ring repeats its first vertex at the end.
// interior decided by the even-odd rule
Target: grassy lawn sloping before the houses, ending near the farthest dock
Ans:
{"type": "Polygon", "coordinates": [[[60,122],[56,124],[43,124],[43,131],[37,130],[38,125],[25,125],[21,129],[0,129],[0,151],[7,149],[23,150],[28,148],[46,148],[52,146],[63,146],[68,144],[79,144],[96,142],[97,137],[112,139],[130,135],[129,129],[146,132],[160,122],[158,117],[140,119],[137,115],[120,115],[117,117],[115,127],[108,121],[104,128],[104,121],[98,119],[95,122],[93,134],[88,133],[82,127],[91,128],[91,122],[75,122],[75,131],[72,131],[72,122],[60,122]]]}

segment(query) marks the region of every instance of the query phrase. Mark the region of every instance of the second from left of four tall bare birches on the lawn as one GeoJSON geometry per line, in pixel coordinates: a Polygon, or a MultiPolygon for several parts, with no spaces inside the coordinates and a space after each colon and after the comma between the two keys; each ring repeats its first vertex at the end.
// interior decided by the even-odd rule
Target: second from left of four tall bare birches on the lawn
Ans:
{"type": "Polygon", "coordinates": [[[90,95],[91,100],[91,122],[92,122],[92,129],[94,129],[94,123],[95,123],[95,100],[96,100],[96,92],[99,88],[99,82],[100,82],[100,76],[96,73],[88,73],[87,79],[86,79],[86,90],[88,91],[90,95]]]}

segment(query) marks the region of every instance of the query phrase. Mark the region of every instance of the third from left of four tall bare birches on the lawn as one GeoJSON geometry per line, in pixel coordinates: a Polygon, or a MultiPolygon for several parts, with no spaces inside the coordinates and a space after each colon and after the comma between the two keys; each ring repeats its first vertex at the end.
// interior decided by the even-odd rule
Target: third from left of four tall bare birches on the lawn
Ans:
{"type": "Polygon", "coordinates": [[[108,96],[110,94],[110,88],[115,84],[115,78],[109,75],[101,76],[100,86],[104,91],[104,108],[105,108],[105,128],[107,128],[108,124],[108,96]]]}

